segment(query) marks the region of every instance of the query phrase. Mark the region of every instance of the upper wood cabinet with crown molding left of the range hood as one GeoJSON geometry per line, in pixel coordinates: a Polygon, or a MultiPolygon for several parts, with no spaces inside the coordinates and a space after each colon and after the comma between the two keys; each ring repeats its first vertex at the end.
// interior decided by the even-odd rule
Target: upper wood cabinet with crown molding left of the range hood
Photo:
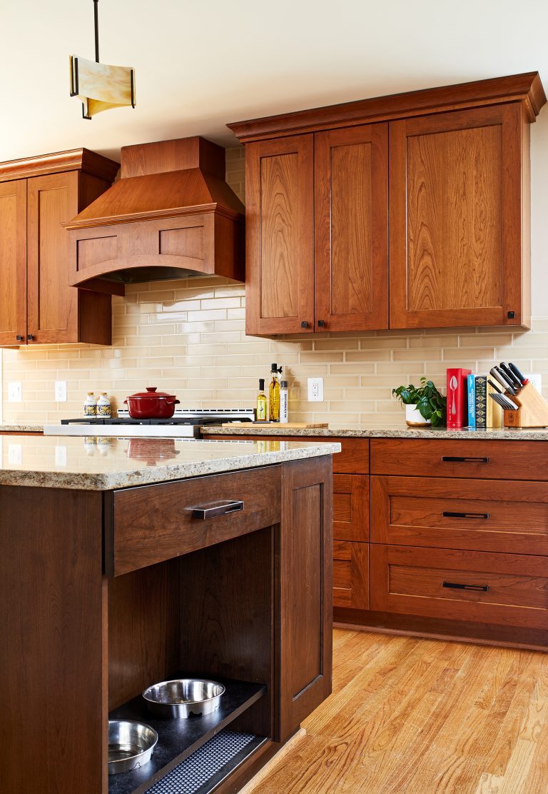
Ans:
{"type": "Polygon", "coordinates": [[[63,224],[117,168],[86,149],[0,164],[0,345],[110,344],[110,296],[70,286],[75,249],[63,224]]]}

